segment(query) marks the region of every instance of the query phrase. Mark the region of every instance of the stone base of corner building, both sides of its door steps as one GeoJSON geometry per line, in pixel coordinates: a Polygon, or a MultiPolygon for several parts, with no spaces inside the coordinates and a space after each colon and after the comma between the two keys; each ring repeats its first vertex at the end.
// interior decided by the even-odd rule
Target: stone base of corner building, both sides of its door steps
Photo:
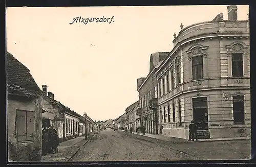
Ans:
{"type": "MultiPolygon", "coordinates": [[[[232,127],[210,127],[210,138],[247,137],[251,134],[250,125],[232,127]]],[[[162,135],[176,138],[189,138],[189,130],[185,128],[162,129],[162,135]]]]}

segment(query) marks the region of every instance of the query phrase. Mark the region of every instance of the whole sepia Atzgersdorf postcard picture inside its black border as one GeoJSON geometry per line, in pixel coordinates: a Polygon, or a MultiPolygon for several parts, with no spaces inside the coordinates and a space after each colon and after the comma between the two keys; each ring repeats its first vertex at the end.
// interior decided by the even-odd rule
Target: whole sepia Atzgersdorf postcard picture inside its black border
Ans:
{"type": "Polygon", "coordinates": [[[251,159],[248,6],[6,19],[8,163],[251,159]]]}

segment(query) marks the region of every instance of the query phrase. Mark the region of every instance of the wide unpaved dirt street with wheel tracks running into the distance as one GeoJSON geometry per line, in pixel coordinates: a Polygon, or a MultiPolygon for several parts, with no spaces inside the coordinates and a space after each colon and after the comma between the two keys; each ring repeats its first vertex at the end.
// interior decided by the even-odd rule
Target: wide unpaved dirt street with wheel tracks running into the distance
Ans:
{"type": "Polygon", "coordinates": [[[250,141],[229,142],[167,142],[106,129],[83,146],[72,161],[245,159],[250,156],[250,141]]]}

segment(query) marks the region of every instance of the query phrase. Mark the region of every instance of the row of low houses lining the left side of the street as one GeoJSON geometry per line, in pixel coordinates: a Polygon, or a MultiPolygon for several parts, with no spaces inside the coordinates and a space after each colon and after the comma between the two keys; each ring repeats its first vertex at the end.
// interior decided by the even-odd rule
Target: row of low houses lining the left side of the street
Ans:
{"type": "Polygon", "coordinates": [[[40,161],[44,123],[57,130],[60,142],[96,130],[96,123],[88,115],[79,115],[56,101],[54,93],[47,94],[47,85],[41,90],[30,70],[7,52],[9,161],[40,161]]]}

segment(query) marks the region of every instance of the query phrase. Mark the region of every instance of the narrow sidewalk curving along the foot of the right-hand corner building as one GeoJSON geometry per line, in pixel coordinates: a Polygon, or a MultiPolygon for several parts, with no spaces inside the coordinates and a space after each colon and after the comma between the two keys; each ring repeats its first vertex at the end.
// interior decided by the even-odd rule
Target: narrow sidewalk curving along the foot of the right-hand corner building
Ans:
{"type": "MultiPolygon", "coordinates": [[[[128,132],[128,133],[130,133],[130,132],[128,132]]],[[[133,134],[136,134],[136,132],[133,132],[133,134]]],[[[138,133],[138,135],[156,138],[156,139],[160,139],[160,140],[164,140],[164,141],[175,141],[175,142],[177,142],[177,141],[202,142],[202,141],[250,140],[249,137],[228,137],[228,138],[209,138],[209,139],[200,139],[197,141],[188,141],[187,139],[183,139],[183,138],[169,137],[169,136],[163,136],[163,135],[159,135],[159,134],[138,133]]]]}

